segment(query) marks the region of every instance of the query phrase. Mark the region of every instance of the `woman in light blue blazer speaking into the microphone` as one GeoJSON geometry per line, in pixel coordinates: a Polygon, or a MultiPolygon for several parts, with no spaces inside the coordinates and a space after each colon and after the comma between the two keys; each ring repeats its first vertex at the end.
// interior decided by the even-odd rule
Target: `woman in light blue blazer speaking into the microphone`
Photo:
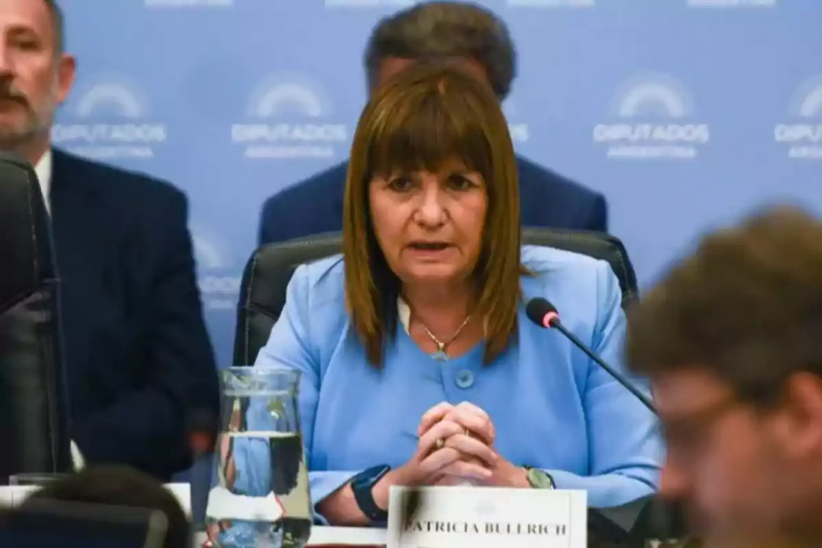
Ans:
{"type": "Polygon", "coordinates": [[[302,374],[312,502],[328,523],[385,521],[392,485],[584,489],[595,507],[655,490],[653,415],[525,315],[547,298],[621,370],[615,275],[523,247],[520,232],[514,150],[487,85],[426,64],[369,101],[344,254],[297,269],[256,360],[302,374]]]}

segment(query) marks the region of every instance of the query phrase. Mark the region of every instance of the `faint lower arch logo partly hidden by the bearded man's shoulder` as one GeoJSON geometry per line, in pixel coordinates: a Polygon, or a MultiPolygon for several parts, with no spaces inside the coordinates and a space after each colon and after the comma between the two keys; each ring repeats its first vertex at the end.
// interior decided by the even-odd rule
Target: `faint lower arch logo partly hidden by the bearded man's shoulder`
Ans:
{"type": "Polygon", "coordinates": [[[206,310],[229,310],[237,307],[241,276],[229,246],[205,228],[191,228],[197,284],[206,310]]]}

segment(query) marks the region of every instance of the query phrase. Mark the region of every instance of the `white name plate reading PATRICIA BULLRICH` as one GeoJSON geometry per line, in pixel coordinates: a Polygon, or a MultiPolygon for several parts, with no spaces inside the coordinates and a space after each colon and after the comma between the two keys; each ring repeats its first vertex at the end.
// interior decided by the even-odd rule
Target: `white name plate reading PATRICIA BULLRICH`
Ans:
{"type": "Polygon", "coordinates": [[[387,548],[586,548],[584,490],[391,487],[387,548]],[[416,510],[406,512],[416,500],[416,510]]]}

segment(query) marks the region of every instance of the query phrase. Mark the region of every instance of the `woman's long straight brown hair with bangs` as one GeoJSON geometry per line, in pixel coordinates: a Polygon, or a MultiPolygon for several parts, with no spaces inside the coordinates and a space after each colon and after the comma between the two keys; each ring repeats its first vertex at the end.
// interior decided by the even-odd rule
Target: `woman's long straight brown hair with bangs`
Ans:
{"type": "Polygon", "coordinates": [[[397,323],[400,282],[382,253],[371,218],[372,178],[395,170],[439,171],[459,162],[483,176],[487,214],[474,267],[483,319],[484,362],[516,333],[520,296],[520,187],[508,125],[491,87],[455,62],[419,62],[368,101],[354,134],[343,205],[345,292],[368,360],[382,364],[397,323]]]}

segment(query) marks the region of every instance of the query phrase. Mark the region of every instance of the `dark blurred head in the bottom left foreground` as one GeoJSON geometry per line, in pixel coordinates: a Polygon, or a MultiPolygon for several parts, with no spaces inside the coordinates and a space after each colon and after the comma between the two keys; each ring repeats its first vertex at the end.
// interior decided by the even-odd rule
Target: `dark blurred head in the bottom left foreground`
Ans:
{"type": "MultiPolygon", "coordinates": [[[[164,548],[192,546],[191,525],[174,495],[153,477],[125,466],[85,468],[53,481],[29,499],[159,510],[168,520],[164,548]]],[[[25,503],[23,503],[25,506],[25,503]]]]}

